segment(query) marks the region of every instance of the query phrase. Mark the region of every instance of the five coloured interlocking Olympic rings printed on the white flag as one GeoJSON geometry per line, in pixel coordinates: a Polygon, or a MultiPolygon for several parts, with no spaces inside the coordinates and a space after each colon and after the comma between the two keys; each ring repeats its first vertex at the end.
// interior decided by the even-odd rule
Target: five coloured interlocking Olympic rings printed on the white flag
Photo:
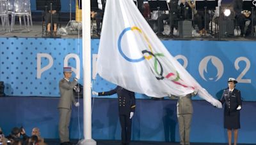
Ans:
{"type": "MultiPolygon", "coordinates": [[[[122,55],[122,57],[124,57],[125,60],[127,60],[129,62],[141,62],[143,60],[151,60],[154,58],[154,70],[152,70],[151,68],[150,69],[154,73],[154,75],[156,76],[156,78],[158,80],[163,80],[164,78],[167,78],[167,79],[170,79],[171,81],[173,81],[173,83],[175,83],[177,85],[189,87],[187,85],[180,83],[180,81],[183,81],[183,80],[180,78],[179,72],[175,71],[175,73],[173,73],[173,72],[164,73],[163,65],[161,64],[161,62],[159,60],[159,57],[164,57],[164,54],[163,53],[153,53],[152,45],[150,44],[147,35],[143,31],[141,31],[141,29],[139,27],[134,26],[134,27],[125,28],[120,33],[117,45],[118,45],[119,53],[122,55]],[[127,55],[125,55],[125,53],[122,50],[122,38],[128,31],[132,31],[132,32],[138,31],[139,34],[143,37],[144,41],[147,43],[148,49],[141,51],[141,53],[143,54],[143,57],[141,57],[139,59],[131,59],[131,58],[127,57],[127,55]]],[[[193,87],[191,87],[191,88],[193,88],[193,87]]]]}

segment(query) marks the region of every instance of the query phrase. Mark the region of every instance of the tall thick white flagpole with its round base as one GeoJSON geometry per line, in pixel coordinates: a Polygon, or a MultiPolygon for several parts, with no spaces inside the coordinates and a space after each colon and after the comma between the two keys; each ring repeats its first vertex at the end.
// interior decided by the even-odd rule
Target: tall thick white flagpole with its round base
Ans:
{"type": "Polygon", "coordinates": [[[84,104],[84,139],[79,144],[96,145],[92,139],[92,90],[91,90],[91,4],[90,0],[82,2],[83,25],[83,104],[84,104]]]}

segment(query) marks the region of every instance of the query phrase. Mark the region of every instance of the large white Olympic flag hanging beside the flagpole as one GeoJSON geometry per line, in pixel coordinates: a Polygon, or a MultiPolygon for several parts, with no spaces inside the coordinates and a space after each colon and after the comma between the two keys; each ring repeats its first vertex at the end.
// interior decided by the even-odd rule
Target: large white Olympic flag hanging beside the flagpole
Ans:
{"type": "Polygon", "coordinates": [[[108,0],[97,58],[99,75],[150,97],[184,96],[198,91],[221,107],[170,55],[132,0],[108,0]]]}

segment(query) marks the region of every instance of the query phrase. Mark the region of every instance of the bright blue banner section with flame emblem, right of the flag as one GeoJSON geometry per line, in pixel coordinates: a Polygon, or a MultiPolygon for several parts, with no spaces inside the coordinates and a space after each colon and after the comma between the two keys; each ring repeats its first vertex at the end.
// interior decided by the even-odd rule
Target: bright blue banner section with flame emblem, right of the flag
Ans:
{"type": "MultiPolygon", "coordinates": [[[[243,100],[256,100],[255,41],[163,41],[175,57],[188,59],[187,71],[212,96],[220,99],[229,77],[236,78],[243,100]],[[201,65],[200,65],[201,64],[201,65]],[[200,71],[202,74],[200,74],[200,71]],[[222,72],[222,73],[221,73],[222,72]],[[239,77],[242,77],[239,79],[239,77]]],[[[184,64],[182,59],[178,59],[184,64]]]]}

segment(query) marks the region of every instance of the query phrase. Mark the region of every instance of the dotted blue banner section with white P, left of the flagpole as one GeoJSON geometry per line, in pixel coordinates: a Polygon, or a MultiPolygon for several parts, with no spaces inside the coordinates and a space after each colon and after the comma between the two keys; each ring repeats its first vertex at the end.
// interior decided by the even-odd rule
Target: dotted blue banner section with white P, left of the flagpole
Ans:
{"type": "MultiPolygon", "coordinates": [[[[1,38],[0,80],[5,83],[6,95],[58,96],[64,59],[70,53],[77,55],[77,43],[78,39],[1,38]],[[42,53],[51,57],[52,66],[37,78],[37,60],[42,53]]],[[[40,60],[43,68],[50,59],[40,60]]],[[[68,61],[68,66],[76,67],[74,59],[68,61]]]]}

